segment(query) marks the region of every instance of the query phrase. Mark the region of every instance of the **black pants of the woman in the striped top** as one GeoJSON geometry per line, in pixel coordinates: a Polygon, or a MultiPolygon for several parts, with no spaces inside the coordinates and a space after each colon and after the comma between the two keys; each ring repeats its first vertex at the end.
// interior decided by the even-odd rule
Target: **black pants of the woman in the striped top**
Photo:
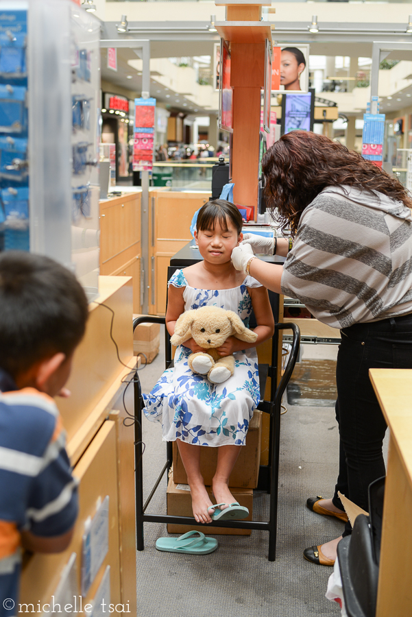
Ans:
{"type": "MultiPolygon", "coordinates": [[[[367,487],[385,476],[382,445],[386,422],[369,379],[369,368],[412,368],[412,315],[354,324],[341,330],[337,356],[336,418],[339,424],[337,492],[368,511],[367,487]]],[[[348,522],[343,536],[350,535],[348,522]]]]}

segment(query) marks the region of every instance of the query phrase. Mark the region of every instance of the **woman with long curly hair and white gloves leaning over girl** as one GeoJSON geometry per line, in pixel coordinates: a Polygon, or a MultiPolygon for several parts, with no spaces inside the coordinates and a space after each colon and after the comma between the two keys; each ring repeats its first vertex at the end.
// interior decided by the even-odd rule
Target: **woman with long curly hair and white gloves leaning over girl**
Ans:
{"type": "MultiPolygon", "coordinates": [[[[266,247],[287,254],[284,267],[254,258],[254,238],[235,248],[232,259],[237,269],[250,268],[263,285],[298,298],[320,322],[341,330],[339,476],[332,498],[310,497],[306,505],[346,520],[338,492],[367,511],[369,484],[385,475],[387,427],[369,369],[412,368],[412,199],[360,154],[311,132],[282,136],[262,169],[267,204],[278,208],[295,241],[289,254],[287,239],[266,247]]],[[[343,536],[350,533],[347,522],[343,536]]],[[[332,566],[339,540],[310,546],[304,557],[332,566]]]]}

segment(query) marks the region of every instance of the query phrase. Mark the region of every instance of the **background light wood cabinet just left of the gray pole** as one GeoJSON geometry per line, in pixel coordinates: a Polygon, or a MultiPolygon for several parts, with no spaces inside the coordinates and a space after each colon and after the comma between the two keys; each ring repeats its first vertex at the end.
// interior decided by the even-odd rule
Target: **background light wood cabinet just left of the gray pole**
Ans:
{"type": "Polygon", "coordinates": [[[132,276],[141,313],[141,191],[100,202],[100,274],[132,276]]]}

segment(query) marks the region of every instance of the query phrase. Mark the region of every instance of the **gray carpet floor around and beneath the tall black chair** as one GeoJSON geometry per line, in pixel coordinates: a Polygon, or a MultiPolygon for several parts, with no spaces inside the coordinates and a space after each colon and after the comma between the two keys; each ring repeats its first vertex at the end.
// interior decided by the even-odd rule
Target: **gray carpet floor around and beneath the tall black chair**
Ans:
{"type": "MultiPolygon", "coordinates": [[[[160,338],[162,340],[162,338],[160,338]]],[[[303,356],[333,359],[335,346],[304,346],[303,356]]],[[[164,356],[139,373],[149,391],[164,367],[164,356]]],[[[149,493],[165,463],[161,427],[143,421],[144,489],[149,493]]],[[[326,617],[340,614],[325,598],[332,568],[302,557],[306,546],[322,544],[343,531],[337,519],[306,508],[306,498],[330,496],[335,486],[338,430],[332,407],[288,405],[282,416],[278,546],[276,561],[267,561],[268,534],[217,535],[210,555],[176,555],[156,551],[164,524],[145,523],[145,550],[137,553],[138,616],[142,617],[326,617]]],[[[166,479],[149,512],[166,513],[166,479]]],[[[267,520],[269,496],[254,492],[254,518],[267,520]]]]}

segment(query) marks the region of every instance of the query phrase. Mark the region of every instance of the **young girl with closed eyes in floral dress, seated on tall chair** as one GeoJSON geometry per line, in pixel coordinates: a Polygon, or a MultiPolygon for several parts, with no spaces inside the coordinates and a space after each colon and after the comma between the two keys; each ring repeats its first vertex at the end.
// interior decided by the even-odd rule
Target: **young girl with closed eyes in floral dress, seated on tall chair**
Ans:
{"type": "Polygon", "coordinates": [[[177,270],[169,280],[166,326],[173,335],[178,317],[200,306],[234,311],[245,326],[252,309],[258,324],[256,343],[229,337],[217,349],[220,356],[234,354],[234,374],[223,383],[211,383],[194,374],[187,358],[204,351],[193,339],[178,346],[174,367],[166,370],[145,398],[145,415],[162,422],[165,441],[177,441],[191,488],[193,516],[200,523],[225,518],[246,518],[246,508],[234,503],[229,476],[237,461],[249,421],[260,399],[255,346],[274,332],[274,317],[267,289],[234,269],[230,256],[243,239],[242,217],[236,206],[223,199],[205,204],[197,217],[196,244],[203,261],[177,270]],[[213,477],[213,506],[200,472],[200,447],[219,446],[213,477]]]}

